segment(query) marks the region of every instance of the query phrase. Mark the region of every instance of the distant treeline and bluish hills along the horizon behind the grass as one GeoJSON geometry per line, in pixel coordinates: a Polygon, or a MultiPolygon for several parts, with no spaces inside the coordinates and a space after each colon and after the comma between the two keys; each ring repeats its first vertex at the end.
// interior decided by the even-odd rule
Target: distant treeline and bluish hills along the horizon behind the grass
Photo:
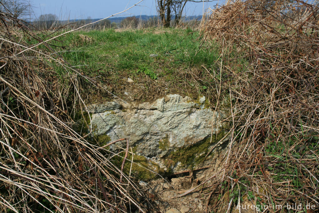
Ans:
{"type": "MultiPolygon", "coordinates": [[[[196,22],[201,20],[202,16],[187,16],[183,18],[183,22],[196,22]]],[[[59,28],[62,26],[68,26],[70,28],[76,28],[89,24],[100,19],[76,19],[76,20],[58,20],[58,17],[54,14],[44,14],[38,17],[37,20],[30,22],[30,24],[36,29],[51,29],[59,28]]],[[[158,27],[161,26],[158,16],[131,16],[131,17],[114,17],[106,20],[99,21],[88,28],[92,29],[105,29],[105,28],[145,28],[145,27],[158,27]]],[[[172,19],[171,26],[174,26],[174,17],[172,19]]]]}

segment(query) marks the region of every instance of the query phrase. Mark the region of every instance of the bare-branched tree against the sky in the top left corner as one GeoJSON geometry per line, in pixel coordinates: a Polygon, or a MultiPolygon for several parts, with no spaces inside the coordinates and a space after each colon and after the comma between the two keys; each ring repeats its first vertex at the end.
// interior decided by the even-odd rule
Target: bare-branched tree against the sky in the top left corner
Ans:
{"type": "Polygon", "coordinates": [[[27,0],[0,0],[0,11],[16,19],[23,19],[30,14],[31,5],[27,0]]]}

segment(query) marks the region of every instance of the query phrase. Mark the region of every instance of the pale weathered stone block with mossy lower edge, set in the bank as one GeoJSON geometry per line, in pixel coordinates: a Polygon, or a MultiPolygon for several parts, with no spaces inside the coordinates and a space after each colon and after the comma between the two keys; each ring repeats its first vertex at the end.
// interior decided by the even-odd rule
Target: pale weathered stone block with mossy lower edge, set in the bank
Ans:
{"type": "MultiPolygon", "coordinates": [[[[93,133],[108,135],[112,141],[128,138],[136,154],[166,171],[205,164],[210,158],[199,158],[204,158],[210,147],[225,136],[225,124],[220,122],[222,113],[214,114],[213,110],[205,108],[203,98],[194,102],[175,94],[153,103],[126,107],[119,110],[121,105],[115,102],[94,105],[93,110],[90,107],[93,133]],[[211,130],[213,143],[210,143],[211,130]]],[[[116,146],[110,148],[116,149],[116,146]]]]}

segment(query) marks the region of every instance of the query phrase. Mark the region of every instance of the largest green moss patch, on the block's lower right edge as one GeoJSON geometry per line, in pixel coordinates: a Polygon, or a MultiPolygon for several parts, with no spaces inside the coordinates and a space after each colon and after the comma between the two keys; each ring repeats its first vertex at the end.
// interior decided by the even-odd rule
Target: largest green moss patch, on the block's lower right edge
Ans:
{"type": "MultiPolygon", "coordinates": [[[[213,134],[212,140],[211,138],[207,138],[197,144],[181,147],[171,152],[165,160],[166,166],[170,168],[177,162],[181,162],[181,166],[188,166],[189,169],[196,168],[206,160],[205,156],[209,152],[209,147],[219,142],[225,134],[226,132],[221,130],[217,135],[213,134]]],[[[213,152],[210,155],[212,156],[213,152]]]]}

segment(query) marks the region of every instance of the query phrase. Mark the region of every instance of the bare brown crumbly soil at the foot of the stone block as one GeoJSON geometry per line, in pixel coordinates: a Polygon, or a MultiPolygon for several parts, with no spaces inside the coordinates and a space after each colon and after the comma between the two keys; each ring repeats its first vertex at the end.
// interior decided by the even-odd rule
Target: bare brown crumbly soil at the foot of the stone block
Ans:
{"type": "Polygon", "coordinates": [[[158,212],[165,213],[172,208],[178,209],[182,213],[204,212],[204,209],[210,208],[210,200],[203,196],[203,191],[213,184],[211,180],[208,180],[204,187],[200,186],[185,196],[180,198],[177,196],[200,185],[208,177],[214,175],[218,171],[217,169],[210,167],[194,171],[191,177],[188,176],[188,173],[184,173],[184,176],[181,177],[160,178],[150,181],[146,186],[144,185],[145,183],[140,185],[142,185],[141,188],[148,192],[150,200],[157,205],[158,212]]]}

